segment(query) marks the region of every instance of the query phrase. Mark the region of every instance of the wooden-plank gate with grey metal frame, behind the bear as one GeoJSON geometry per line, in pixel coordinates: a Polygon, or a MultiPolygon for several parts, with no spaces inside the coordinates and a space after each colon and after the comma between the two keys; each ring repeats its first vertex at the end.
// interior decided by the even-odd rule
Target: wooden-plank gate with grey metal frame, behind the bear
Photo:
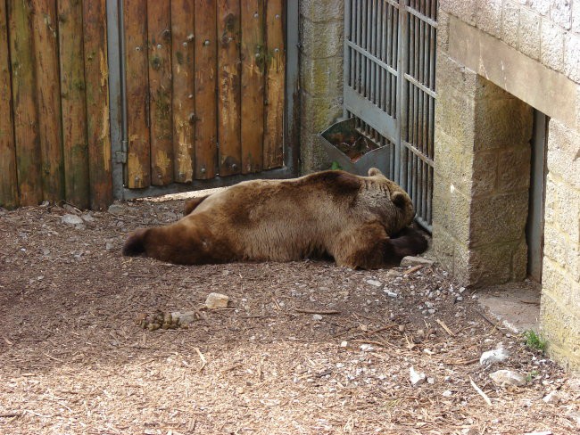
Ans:
{"type": "Polygon", "coordinates": [[[115,198],[293,175],[295,2],[108,0],[107,16],[115,198]]]}

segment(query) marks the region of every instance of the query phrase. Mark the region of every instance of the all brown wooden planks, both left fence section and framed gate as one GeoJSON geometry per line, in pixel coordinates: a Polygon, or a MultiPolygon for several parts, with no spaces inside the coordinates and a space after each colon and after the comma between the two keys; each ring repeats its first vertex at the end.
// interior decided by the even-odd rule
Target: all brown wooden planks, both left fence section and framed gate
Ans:
{"type": "MultiPolygon", "coordinates": [[[[286,2],[120,4],[122,185],[282,167],[286,2]]],[[[106,5],[0,0],[0,206],[112,202],[106,5]]]]}

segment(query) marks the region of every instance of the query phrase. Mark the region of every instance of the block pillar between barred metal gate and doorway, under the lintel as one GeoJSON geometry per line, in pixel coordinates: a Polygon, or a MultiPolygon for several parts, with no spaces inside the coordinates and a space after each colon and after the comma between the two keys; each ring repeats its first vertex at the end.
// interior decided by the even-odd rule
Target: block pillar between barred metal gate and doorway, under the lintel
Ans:
{"type": "Polygon", "coordinates": [[[469,285],[526,277],[530,106],[437,57],[434,248],[469,285]]]}

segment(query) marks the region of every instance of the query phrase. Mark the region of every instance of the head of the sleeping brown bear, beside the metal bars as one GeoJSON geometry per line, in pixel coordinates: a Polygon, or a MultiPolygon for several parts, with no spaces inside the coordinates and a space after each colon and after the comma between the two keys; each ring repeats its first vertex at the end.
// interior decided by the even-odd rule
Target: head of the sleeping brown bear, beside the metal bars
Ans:
{"type": "Polygon", "coordinates": [[[369,177],[372,184],[383,193],[383,201],[380,201],[380,215],[387,232],[395,234],[405,226],[410,226],[415,217],[415,209],[409,194],[377,168],[369,169],[369,177]],[[387,201],[384,201],[384,195],[387,196],[387,201]]]}

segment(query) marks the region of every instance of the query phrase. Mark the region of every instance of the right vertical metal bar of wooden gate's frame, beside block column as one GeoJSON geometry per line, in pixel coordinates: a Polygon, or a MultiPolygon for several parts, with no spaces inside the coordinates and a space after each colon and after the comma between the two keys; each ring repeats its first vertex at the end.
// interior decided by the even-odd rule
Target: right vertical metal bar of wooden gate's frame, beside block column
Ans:
{"type": "Polygon", "coordinates": [[[289,173],[298,168],[300,68],[298,2],[286,2],[286,113],[284,115],[284,164],[289,173]]]}

